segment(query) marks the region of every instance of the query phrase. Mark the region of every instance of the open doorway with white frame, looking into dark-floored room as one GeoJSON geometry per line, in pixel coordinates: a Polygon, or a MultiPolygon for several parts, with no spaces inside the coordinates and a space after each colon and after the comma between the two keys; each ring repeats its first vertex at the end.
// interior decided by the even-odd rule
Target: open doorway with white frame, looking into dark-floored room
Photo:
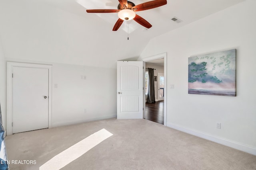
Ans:
{"type": "MultiPolygon", "coordinates": [[[[151,57],[146,57],[143,59],[144,68],[154,68],[154,76],[155,76],[155,103],[146,103],[146,87],[145,89],[145,102],[144,102],[144,118],[150,121],[155,121],[157,123],[161,123],[166,125],[166,58],[167,54],[162,53],[159,55],[154,55],[151,57]],[[164,80],[164,83],[160,83],[160,79],[164,80]],[[162,85],[162,86],[161,86],[162,85]],[[158,90],[159,89],[159,90],[158,90]]],[[[146,76],[147,69],[144,69],[144,75],[146,76]]],[[[144,78],[145,79],[145,78],[144,78]]],[[[146,80],[144,80],[146,84],[146,80]]]]}

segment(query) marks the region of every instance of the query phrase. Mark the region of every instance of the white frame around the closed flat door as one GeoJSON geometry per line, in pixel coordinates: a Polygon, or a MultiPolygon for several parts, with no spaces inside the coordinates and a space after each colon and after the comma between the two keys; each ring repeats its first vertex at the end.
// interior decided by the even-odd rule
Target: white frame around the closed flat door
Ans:
{"type": "Polygon", "coordinates": [[[7,62],[7,126],[6,134],[12,135],[12,72],[13,67],[45,68],[48,69],[48,128],[52,127],[52,65],[7,62]]]}

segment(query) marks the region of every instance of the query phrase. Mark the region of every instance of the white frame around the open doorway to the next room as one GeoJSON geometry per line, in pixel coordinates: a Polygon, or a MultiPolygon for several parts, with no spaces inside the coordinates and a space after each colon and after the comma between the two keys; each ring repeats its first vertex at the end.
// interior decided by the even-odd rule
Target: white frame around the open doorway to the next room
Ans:
{"type": "MultiPolygon", "coordinates": [[[[145,57],[142,59],[143,62],[143,66],[144,68],[146,68],[146,64],[145,62],[147,61],[152,61],[152,60],[156,60],[156,59],[162,59],[164,58],[164,125],[166,126],[166,120],[167,120],[167,53],[161,53],[161,54],[158,54],[158,55],[153,55],[153,56],[150,56],[150,57],[145,57]]],[[[143,84],[145,86],[145,70],[146,69],[143,69],[143,84]]],[[[144,102],[143,102],[143,108],[146,108],[146,103],[145,103],[145,88],[144,88],[144,102]]],[[[145,109],[143,110],[143,118],[145,119],[145,109]]]]}

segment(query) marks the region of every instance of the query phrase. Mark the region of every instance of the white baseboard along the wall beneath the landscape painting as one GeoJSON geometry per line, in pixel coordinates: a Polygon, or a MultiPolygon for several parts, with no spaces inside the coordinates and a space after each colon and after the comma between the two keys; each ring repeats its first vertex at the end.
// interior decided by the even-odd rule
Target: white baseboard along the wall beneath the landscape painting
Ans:
{"type": "Polygon", "coordinates": [[[236,143],[234,141],[229,141],[227,139],[223,139],[223,138],[216,137],[216,136],[213,136],[213,135],[209,135],[209,134],[206,134],[206,133],[202,133],[200,131],[195,131],[194,129],[181,127],[180,125],[176,125],[176,124],[173,124],[173,123],[167,123],[166,125],[168,127],[173,128],[173,129],[176,129],[176,130],[179,130],[179,131],[182,131],[182,132],[185,132],[185,133],[189,133],[191,135],[201,137],[201,138],[207,139],[209,141],[213,141],[213,142],[216,142],[216,143],[219,143],[219,144],[222,144],[222,145],[225,145],[225,146],[237,149],[237,150],[241,150],[241,151],[256,155],[256,148],[249,147],[249,146],[246,146],[246,145],[242,145],[240,143],[236,143]]]}

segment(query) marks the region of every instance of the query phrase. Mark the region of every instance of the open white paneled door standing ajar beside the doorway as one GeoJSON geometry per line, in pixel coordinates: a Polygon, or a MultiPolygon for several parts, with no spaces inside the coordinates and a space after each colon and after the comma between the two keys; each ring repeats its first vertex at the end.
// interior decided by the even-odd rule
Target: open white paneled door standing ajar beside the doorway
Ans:
{"type": "Polygon", "coordinates": [[[143,61],[117,62],[117,119],[143,119],[143,61]]]}

